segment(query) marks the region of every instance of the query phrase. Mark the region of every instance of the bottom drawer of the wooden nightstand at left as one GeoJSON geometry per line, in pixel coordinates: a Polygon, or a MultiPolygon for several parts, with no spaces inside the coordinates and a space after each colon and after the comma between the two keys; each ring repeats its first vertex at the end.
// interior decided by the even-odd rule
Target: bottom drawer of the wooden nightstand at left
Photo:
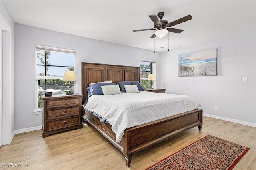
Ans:
{"type": "Polygon", "coordinates": [[[47,122],[47,131],[79,125],[79,116],[47,122]]]}

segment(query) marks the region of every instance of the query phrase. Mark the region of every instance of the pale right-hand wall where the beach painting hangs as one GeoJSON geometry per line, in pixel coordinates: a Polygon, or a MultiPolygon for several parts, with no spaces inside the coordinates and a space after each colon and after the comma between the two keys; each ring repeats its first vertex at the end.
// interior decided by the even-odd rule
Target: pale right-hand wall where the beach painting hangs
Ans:
{"type": "Polygon", "coordinates": [[[160,53],[161,88],[189,95],[204,113],[256,125],[256,31],[160,53]],[[217,76],[178,77],[178,55],[217,48],[217,76]],[[248,77],[243,83],[242,77],[248,77]],[[219,109],[214,109],[217,104],[219,109]]]}

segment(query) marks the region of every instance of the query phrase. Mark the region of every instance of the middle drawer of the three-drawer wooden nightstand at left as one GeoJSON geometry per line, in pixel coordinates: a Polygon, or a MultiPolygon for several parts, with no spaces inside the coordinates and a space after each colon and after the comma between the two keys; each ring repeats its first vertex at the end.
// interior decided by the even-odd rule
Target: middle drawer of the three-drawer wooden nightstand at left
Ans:
{"type": "Polygon", "coordinates": [[[48,118],[54,118],[65,115],[79,115],[79,107],[55,109],[48,111],[48,118]]]}

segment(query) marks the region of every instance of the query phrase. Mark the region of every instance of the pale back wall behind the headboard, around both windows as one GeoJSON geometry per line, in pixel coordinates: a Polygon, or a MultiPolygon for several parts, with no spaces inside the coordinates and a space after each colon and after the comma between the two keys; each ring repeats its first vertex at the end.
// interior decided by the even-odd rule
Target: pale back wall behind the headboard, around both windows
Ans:
{"type": "MultiPolygon", "coordinates": [[[[160,77],[160,53],[115,43],[73,36],[22,24],[15,24],[15,129],[42,125],[34,115],[36,57],[35,45],[76,50],[76,93],[81,93],[81,62],[139,67],[140,59],[156,61],[160,77]]],[[[160,79],[156,82],[160,87],[160,79]]]]}

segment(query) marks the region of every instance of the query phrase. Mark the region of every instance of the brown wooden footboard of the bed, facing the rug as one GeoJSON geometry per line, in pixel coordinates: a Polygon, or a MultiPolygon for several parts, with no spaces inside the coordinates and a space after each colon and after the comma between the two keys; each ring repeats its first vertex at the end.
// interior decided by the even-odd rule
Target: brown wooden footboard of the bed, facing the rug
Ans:
{"type": "Polygon", "coordinates": [[[201,125],[202,109],[197,109],[126,129],[124,155],[128,158],[127,166],[130,166],[131,155],[139,150],[149,148],[196,126],[200,130],[201,125]]]}

